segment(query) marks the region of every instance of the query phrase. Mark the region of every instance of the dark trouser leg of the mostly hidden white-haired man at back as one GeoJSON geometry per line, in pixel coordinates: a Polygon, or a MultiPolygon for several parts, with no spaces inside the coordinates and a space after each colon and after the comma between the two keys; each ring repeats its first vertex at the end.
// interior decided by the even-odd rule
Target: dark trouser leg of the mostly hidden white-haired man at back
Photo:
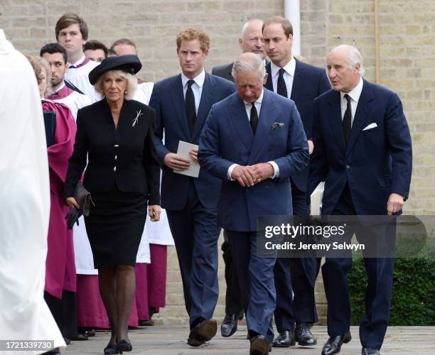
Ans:
{"type": "Polygon", "coordinates": [[[227,283],[227,291],[225,293],[225,314],[238,315],[242,310],[242,302],[239,278],[237,278],[237,266],[232,257],[227,231],[224,230],[223,234],[224,241],[221,249],[222,258],[225,263],[225,283],[227,283]]]}

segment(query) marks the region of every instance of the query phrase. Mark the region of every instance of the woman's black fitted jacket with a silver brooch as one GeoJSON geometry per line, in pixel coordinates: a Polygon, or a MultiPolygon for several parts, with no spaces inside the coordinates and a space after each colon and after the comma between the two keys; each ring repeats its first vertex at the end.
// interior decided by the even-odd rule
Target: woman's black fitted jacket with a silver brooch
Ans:
{"type": "Polygon", "coordinates": [[[154,109],[135,100],[124,101],[117,129],[106,99],[79,109],[65,197],[74,195],[88,156],[83,185],[91,193],[112,190],[116,183],[123,192],[143,192],[149,204],[160,204],[154,120],[154,109]]]}

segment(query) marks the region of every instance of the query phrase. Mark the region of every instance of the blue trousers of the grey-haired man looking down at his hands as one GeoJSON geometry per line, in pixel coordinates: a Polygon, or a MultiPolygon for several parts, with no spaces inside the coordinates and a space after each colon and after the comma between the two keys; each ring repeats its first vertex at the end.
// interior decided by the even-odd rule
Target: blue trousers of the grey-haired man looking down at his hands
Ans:
{"type": "Polygon", "coordinates": [[[274,264],[276,258],[257,256],[256,231],[227,231],[232,257],[237,265],[242,304],[248,330],[274,340],[272,315],[276,307],[274,264]]]}

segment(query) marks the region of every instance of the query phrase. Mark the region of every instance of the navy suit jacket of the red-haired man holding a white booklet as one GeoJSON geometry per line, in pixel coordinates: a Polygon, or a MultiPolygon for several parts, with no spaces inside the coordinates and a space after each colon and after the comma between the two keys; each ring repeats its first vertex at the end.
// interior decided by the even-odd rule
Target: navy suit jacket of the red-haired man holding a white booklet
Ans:
{"type": "MultiPolygon", "coordinates": [[[[205,119],[212,105],[225,99],[234,91],[235,86],[232,82],[206,72],[198,116],[193,135],[190,135],[181,74],[154,84],[149,106],[156,110],[154,146],[163,172],[161,180],[161,206],[163,208],[183,209],[187,202],[189,187],[188,176],[173,173],[163,164],[165,155],[177,152],[178,141],[198,144],[205,119]]],[[[200,170],[200,175],[198,179],[194,179],[194,182],[200,202],[207,208],[216,207],[220,180],[200,170]]]]}

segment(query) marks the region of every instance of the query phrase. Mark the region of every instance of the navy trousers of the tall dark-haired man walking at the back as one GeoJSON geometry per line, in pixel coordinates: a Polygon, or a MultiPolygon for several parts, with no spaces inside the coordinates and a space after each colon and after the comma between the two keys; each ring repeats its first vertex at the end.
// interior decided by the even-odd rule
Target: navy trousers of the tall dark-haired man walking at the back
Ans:
{"type": "MultiPolygon", "coordinates": [[[[293,214],[308,216],[306,192],[291,182],[293,214]]],[[[294,330],[296,323],[318,321],[314,287],[318,274],[316,258],[277,258],[274,267],[276,310],[274,312],[278,332],[294,330]],[[293,295],[294,294],[294,295],[293,295]]]]}

